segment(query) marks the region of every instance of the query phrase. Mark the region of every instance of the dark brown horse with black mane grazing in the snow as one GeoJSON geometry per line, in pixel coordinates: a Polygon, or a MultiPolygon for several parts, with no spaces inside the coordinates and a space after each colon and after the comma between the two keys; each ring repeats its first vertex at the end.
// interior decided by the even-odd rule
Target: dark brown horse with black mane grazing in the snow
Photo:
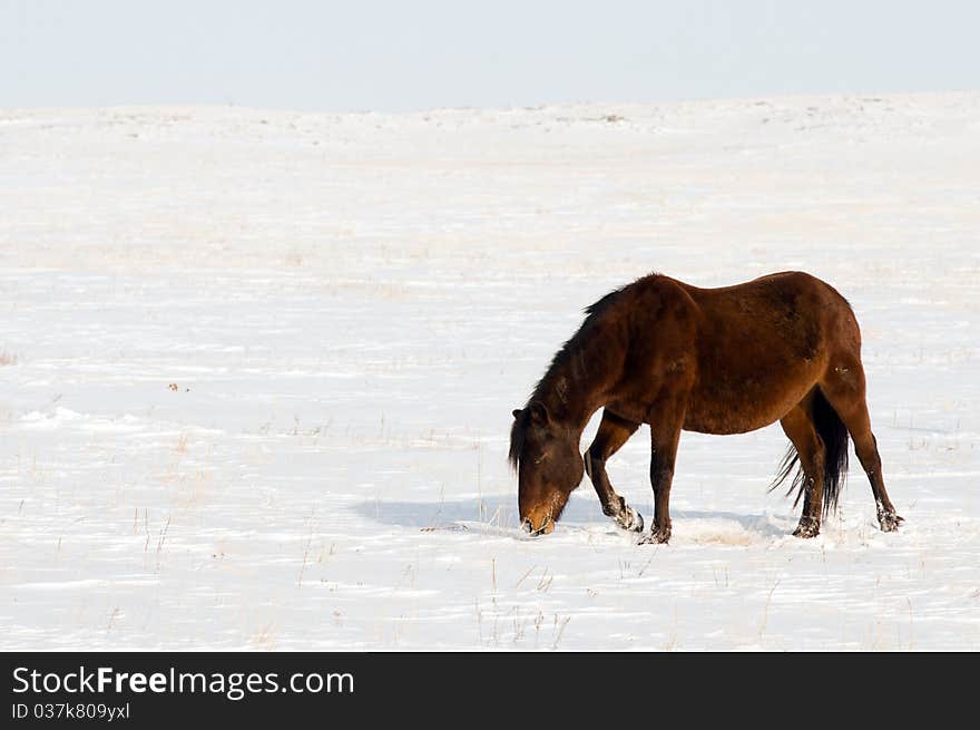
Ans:
{"type": "Polygon", "coordinates": [[[513,411],[510,460],[521,524],[530,533],[555,528],[582,473],[602,512],[641,532],[643,518],[616,494],[606,461],[648,424],[654,525],[643,542],[666,543],[680,431],[744,434],[775,421],[791,441],[776,484],[800,466],[791,491],[798,489],[797,500],[803,495],[803,515],[794,535],[816,535],[821,517],[836,506],[849,432],[881,528],[898,528],[902,518],[884,488],[864,400],[861,332],[851,305],[830,284],[785,272],[698,289],[651,274],[586,312],[528,405],[513,411]],[[582,430],[600,407],[596,439],[581,457],[582,430]]]}

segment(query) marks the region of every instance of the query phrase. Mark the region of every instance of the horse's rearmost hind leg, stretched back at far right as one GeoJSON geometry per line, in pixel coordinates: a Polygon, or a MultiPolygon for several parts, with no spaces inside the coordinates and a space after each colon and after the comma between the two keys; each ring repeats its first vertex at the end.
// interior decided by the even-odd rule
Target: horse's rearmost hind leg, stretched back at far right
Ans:
{"type": "Polygon", "coordinates": [[[884,488],[881,474],[881,455],[878,452],[878,439],[871,431],[871,416],[868,413],[865,399],[864,368],[856,358],[849,359],[844,364],[830,369],[820,383],[827,402],[837,411],[837,416],[854,440],[854,451],[868,480],[878,510],[878,524],[882,532],[892,533],[904,522],[895,513],[892,500],[884,488]]]}

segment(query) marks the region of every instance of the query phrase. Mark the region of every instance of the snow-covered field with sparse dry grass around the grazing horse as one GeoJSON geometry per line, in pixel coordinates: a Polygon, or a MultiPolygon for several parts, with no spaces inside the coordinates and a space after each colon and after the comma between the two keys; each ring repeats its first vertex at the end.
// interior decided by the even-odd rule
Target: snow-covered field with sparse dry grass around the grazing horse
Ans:
{"type": "Polygon", "coordinates": [[[0,110],[0,648],[980,649],[978,311],[980,94],[0,110]],[[776,425],[683,436],[669,546],[588,481],[522,537],[581,309],[790,269],[862,323],[903,529],[852,458],[791,537],[776,425]]]}

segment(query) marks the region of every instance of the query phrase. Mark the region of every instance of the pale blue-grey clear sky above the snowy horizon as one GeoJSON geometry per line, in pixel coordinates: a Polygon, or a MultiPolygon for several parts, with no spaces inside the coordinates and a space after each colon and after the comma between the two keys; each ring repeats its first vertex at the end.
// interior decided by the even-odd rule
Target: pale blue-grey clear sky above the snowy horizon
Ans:
{"type": "Polygon", "coordinates": [[[978,29],[973,0],[0,0],[0,107],[978,89],[978,29]]]}

